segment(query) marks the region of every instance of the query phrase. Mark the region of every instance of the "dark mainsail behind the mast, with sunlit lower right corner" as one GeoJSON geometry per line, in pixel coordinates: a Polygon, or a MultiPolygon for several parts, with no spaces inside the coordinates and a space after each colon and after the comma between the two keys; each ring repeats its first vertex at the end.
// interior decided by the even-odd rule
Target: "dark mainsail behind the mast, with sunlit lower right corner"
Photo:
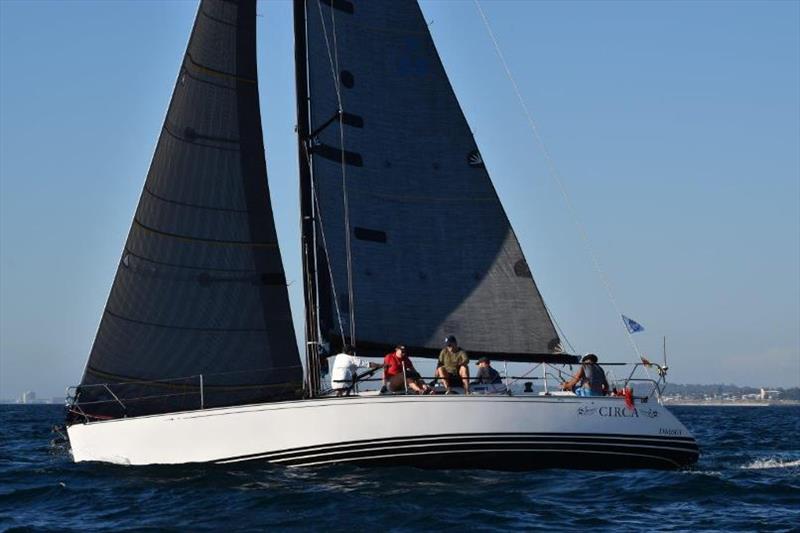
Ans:
{"type": "Polygon", "coordinates": [[[417,2],[297,3],[322,340],[335,347],[354,329],[361,354],[404,343],[432,356],[454,334],[509,361],[574,361],[560,354],[417,2]]]}

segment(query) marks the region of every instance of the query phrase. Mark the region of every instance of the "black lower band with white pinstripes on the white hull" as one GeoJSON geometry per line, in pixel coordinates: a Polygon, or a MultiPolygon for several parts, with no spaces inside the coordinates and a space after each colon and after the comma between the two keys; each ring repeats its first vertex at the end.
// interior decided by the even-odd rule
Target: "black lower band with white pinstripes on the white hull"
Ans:
{"type": "Polygon", "coordinates": [[[460,435],[380,439],[255,454],[221,463],[266,460],[286,466],[349,463],[431,469],[673,469],[697,461],[691,438],[576,434],[460,435]]]}

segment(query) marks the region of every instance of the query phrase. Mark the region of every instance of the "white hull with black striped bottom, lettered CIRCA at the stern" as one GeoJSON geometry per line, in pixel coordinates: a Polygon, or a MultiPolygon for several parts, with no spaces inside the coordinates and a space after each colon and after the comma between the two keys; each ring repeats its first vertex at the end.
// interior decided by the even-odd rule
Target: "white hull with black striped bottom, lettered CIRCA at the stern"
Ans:
{"type": "Polygon", "coordinates": [[[67,429],[76,462],[264,460],[527,470],[675,468],[694,439],[657,402],[575,396],[355,396],[123,418],[67,429]]]}

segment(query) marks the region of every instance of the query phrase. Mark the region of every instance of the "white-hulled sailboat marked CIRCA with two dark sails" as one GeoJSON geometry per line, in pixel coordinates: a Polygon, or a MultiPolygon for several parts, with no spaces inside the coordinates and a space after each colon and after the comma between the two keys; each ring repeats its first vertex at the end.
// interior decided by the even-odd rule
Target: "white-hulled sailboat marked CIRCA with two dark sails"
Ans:
{"type": "Polygon", "coordinates": [[[71,395],[74,460],[695,462],[656,381],[627,399],[548,389],[579,358],[562,349],[417,2],[294,0],[294,30],[302,359],[267,181],[256,2],[201,0],[71,395]],[[469,395],[326,392],[326,357],[345,344],[380,357],[402,342],[435,358],[448,335],[473,357],[538,365],[541,381],[469,395]]]}

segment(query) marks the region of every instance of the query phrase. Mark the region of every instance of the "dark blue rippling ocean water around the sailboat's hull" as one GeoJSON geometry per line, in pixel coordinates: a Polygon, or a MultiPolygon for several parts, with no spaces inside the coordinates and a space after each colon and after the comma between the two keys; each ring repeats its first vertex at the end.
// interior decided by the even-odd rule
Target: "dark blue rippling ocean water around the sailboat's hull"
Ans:
{"type": "Polygon", "coordinates": [[[800,407],[673,407],[681,471],[73,464],[58,406],[0,406],[0,530],[800,531],[800,407]]]}

